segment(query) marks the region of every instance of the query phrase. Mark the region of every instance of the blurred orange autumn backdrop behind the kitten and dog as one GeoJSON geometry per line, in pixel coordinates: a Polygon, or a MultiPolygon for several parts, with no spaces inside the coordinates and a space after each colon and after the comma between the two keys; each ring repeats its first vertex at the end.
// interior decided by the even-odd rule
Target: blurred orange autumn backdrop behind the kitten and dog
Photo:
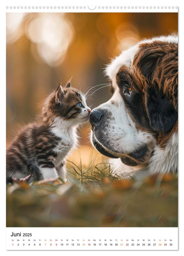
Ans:
{"type": "MultiPolygon", "coordinates": [[[[60,79],[73,76],[81,91],[108,83],[103,68],[121,50],[177,28],[177,13],[7,13],[7,144],[60,79]]],[[[109,98],[104,87],[87,104],[109,98]]],[[[81,145],[91,146],[89,131],[80,129],[81,145]]]]}

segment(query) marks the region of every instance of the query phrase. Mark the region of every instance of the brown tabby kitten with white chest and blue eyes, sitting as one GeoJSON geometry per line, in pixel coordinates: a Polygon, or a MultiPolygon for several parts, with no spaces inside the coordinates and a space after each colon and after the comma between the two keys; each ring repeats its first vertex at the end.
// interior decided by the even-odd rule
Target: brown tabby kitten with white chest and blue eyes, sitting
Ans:
{"type": "Polygon", "coordinates": [[[90,113],[84,95],[70,81],[59,85],[44,103],[40,124],[28,124],[9,145],[7,184],[12,177],[29,174],[34,174],[29,182],[58,177],[66,181],[65,158],[77,144],[78,125],[87,122],[90,113]]]}

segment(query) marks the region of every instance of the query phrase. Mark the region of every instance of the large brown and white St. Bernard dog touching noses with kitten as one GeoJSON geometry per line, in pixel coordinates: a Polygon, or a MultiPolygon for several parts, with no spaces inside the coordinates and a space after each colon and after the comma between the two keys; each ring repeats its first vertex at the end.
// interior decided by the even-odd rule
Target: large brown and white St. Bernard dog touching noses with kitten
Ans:
{"type": "Polygon", "coordinates": [[[106,75],[112,97],[90,116],[95,148],[118,158],[119,174],[177,173],[177,36],[139,42],[112,60],[106,75]]]}

